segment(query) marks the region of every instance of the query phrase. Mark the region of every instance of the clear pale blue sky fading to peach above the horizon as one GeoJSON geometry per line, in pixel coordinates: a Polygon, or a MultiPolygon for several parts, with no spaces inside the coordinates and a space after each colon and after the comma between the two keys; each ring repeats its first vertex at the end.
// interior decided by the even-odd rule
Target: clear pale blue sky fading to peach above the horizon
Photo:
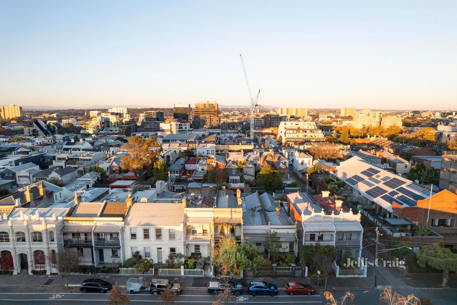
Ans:
{"type": "Polygon", "coordinates": [[[457,1],[0,1],[0,104],[457,110],[457,1]]]}

